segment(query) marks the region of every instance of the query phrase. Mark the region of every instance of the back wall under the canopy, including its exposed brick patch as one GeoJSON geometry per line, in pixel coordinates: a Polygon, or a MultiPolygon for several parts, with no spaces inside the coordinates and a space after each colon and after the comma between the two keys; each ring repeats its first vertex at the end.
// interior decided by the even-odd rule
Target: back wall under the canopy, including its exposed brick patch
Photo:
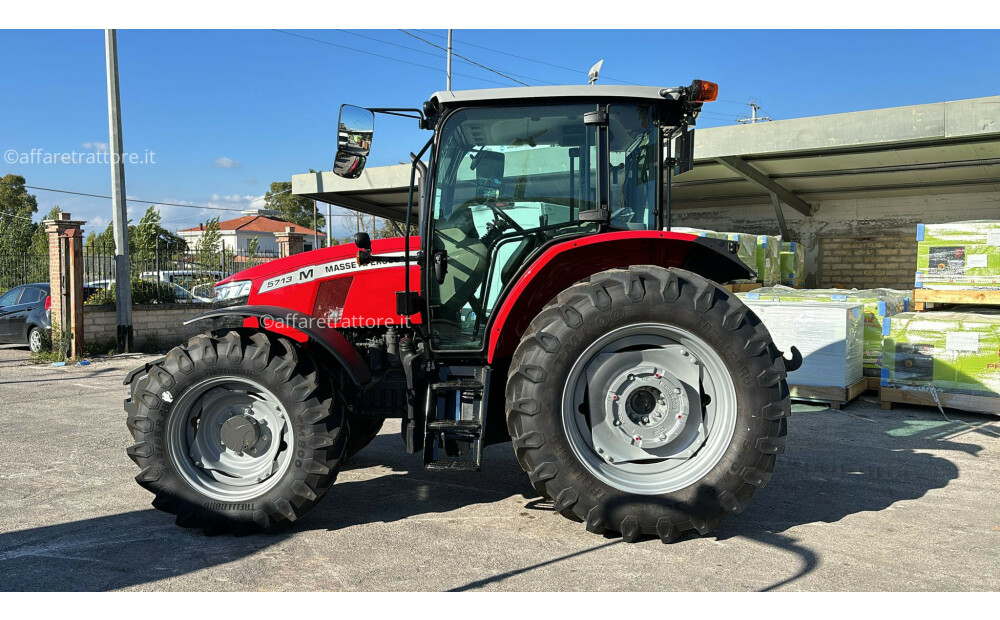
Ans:
{"type": "MultiPolygon", "coordinates": [[[[807,285],[913,288],[919,223],[1000,219],[1000,193],[813,200],[806,217],[784,207],[794,241],[808,247],[807,285]]],[[[770,204],[675,209],[674,226],[778,234],[770,204]]]]}

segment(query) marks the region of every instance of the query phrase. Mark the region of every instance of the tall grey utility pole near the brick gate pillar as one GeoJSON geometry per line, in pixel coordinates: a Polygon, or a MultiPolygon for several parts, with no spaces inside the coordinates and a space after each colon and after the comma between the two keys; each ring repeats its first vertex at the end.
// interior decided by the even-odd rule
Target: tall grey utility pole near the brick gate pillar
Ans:
{"type": "Polygon", "coordinates": [[[118,352],[132,351],[132,278],[128,257],[128,209],[125,206],[125,162],[122,160],[122,102],[118,91],[118,37],[104,31],[108,61],[108,128],[111,149],[111,206],[115,233],[115,316],[118,352]]]}

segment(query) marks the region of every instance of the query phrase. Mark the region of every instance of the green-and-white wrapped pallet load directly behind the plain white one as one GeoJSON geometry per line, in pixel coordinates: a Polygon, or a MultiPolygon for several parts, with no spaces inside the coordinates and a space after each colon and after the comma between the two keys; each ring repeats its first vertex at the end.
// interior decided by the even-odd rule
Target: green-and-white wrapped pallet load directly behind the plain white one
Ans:
{"type": "Polygon", "coordinates": [[[864,313],[864,374],[878,377],[882,372],[882,319],[910,309],[909,291],[875,289],[793,289],[787,286],[759,288],[739,297],[744,300],[776,302],[851,302],[860,303],[864,313]]]}

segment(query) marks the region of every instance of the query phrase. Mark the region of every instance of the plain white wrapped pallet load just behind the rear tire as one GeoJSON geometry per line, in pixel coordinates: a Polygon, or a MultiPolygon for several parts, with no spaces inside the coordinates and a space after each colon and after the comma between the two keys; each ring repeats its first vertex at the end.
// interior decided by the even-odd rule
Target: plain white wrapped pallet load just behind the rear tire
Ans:
{"type": "Polygon", "coordinates": [[[795,346],[802,353],[802,366],[788,374],[789,385],[846,389],[861,380],[861,304],[744,301],[760,317],[778,349],[788,351],[795,346]]]}

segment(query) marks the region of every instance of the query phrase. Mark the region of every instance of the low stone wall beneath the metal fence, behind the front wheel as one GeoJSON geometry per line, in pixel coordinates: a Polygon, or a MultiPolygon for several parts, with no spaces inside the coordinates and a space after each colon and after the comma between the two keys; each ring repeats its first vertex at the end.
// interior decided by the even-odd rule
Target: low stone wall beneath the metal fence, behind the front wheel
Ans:
{"type": "MultiPolygon", "coordinates": [[[[184,321],[212,308],[211,304],[149,304],[132,306],[133,342],[142,349],[150,336],[165,348],[173,347],[208,329],[208,323],[184,321]]],[[[118,337],[114,306],[84,306],[83,333],[87,345],[114,342],[118,337]]],[[[99,352],[99,351],[98,351],[99,352]]]]}

